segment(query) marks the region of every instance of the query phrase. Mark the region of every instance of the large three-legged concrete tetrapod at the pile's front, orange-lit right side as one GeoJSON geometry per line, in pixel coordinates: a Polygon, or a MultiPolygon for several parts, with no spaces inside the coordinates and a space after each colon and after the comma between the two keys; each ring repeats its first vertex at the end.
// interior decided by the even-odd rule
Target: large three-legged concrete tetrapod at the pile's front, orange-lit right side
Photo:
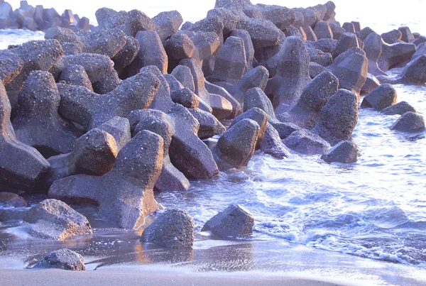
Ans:
{"type": "Polygon", "coordinates": [[[163,138],[141,131],[120,150],[102,177],[75,175],[53,183],[50,197],[73,204],[99,205],[99,214],[121,229],[138,229],[160,209],[153,187],[163,167],[163,138]]]}

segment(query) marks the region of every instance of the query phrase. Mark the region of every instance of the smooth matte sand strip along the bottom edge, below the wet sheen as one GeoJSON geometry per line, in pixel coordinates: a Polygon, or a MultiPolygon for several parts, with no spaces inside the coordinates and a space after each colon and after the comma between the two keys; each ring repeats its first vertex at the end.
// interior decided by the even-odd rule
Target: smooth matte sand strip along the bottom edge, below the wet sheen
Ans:
{"type": "Polygon", "coordinates": [[[0,270],[0,285],[354,285],[299,277],[252,273],[164,273],[133,268],[107,268],[84,272],[65,270],[0,270]]]}

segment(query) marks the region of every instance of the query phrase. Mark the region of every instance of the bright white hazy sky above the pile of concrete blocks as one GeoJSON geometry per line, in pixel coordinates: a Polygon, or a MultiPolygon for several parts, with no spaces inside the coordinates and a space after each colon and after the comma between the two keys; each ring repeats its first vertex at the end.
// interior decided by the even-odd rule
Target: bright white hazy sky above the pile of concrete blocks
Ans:
{"type": "MultiPolygon", "coordinates": [[[[19,0],[9,0],[9,4],[13,9],[20,6],[19,0]]],[[[324,4],[327,1],[318,0],[302,0],[302,1],[282,1],[282,0],[263,0],[251,1],[253,4],[277,4],[281,6],[307,7],[316,4],[324,4]]],[[[65,9],[71,9],[73,13],[77,13],[80,17],[86,16],[92,23],[96,21],[94,13],[97,9],[108,7],[117,11],[138,9],[153,17],[162,11],[178,10],[184,21],[198,21],[207,15],[207,11],[214,8],[215,0],[204,0],[200,3],[197,0],[172,1],[158,0],[155,4],[135,3],[133,1],[82,1],[75,0],[65,4],[65,2],[54,0],[28,0],[28,4],[32,6],[43,5],[45,8],[55,8],[58,13],[62,13],[65,9]]],[[[426,11],[426,0],[405,0],[405,5],[385,4],[379,1],[359,0],[344,1],[335,0],[337,6],[337,21],[344,23],[346,21],[361,21],[361,26],[370,26],[378,33],[388,31],[392,27],[407,25],[413,32],[426,34],[426,24],[421,23],[426,11]]]]}

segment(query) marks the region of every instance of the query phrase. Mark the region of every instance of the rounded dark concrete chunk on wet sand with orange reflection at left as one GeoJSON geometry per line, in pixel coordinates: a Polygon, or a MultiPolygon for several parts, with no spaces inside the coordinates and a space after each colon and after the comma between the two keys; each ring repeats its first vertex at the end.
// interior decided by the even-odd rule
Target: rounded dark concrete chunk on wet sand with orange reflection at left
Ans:
{"type": "Polygon", "coordinates": [[[181,209],[168,209],[143,231],[141,242],[165,248],[192,248],[194,219],[181,209]]]}

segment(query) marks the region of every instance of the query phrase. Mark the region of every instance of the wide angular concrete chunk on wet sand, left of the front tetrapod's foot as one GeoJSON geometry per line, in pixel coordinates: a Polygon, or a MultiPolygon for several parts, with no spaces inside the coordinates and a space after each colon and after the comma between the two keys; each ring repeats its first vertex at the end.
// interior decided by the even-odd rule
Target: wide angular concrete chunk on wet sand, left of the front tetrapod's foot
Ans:
{"type": "Polygon", "coordinates": [[[32,236],[43,239],[64,241],[93,233],[85,216],[57,199],[45,199],[32,207],[24,221],[33,224],[29,232],[32,236]]]}

